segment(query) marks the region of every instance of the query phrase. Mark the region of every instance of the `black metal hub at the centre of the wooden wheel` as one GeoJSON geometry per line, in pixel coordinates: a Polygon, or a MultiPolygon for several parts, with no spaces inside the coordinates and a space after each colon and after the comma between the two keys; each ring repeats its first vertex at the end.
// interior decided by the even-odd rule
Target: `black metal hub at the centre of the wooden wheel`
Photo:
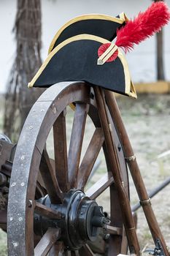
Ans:
{"type": "Polygon", "coordinates": [[[61,219],[46,219],[35,214],[34,232],[43,235],[48,227],[60,227],[61,240],[68,249],[79,249],[87,241],[95,241],[100,227],[109,222],[103,208],[81,190],[71,189],[65,194],[62,205],[51,204],[48,195],[39,201],[60,211],[61,219]]]}

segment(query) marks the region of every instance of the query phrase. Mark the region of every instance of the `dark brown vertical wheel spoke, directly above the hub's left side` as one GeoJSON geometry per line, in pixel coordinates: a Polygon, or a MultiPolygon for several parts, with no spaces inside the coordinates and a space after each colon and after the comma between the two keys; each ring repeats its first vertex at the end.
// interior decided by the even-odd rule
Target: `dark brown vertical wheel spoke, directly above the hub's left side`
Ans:
{"type": "Polygon", "coordinates": [[[63,192],[69,189],[68,165],[66,149],[66,109],[58,116],[53,125],[54,152],[55,152],[55,173],[59,186],[63,192]]]}

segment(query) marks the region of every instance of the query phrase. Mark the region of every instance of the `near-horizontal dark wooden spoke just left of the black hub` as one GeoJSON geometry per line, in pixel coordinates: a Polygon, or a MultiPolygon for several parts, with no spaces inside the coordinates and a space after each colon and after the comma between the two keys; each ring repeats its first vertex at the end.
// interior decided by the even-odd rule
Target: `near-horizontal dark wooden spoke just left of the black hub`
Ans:
{"type": "Polygon", "coordinates": [[[49,219],[61,219],[61,214],[58,211],[55,211],[52,208],[48,208],[42,205],[42,203],[36,201],[34,202],[34,211],[36,214],[49,219]]]}

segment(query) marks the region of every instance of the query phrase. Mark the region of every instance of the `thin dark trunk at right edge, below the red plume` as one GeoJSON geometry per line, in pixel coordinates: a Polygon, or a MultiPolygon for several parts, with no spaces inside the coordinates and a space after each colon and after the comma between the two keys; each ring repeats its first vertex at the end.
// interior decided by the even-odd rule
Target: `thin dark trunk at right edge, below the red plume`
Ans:
{"type": "MultiPolygon", "coordinates": [[[[154,0],[163,1],[163,0],[154,0]]],[[[157,67],[157,80],[165,80],[164,67],[163,67],[163,29],[156,34],[156,67],[157,67]]]]}

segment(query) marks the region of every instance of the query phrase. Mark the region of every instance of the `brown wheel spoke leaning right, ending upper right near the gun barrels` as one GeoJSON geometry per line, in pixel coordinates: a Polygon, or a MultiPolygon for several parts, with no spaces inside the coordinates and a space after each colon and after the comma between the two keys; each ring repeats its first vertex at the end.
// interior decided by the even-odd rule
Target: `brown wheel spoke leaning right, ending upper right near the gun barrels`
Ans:
{"type": "Polygon", "coordinates": [[[83,189],[88,181],[93,165],[96,162],[96,158],[101,150],[101,146],[104,143],[104,135],[101,128],[97,128],[93,134],[90,144],[85,153],[85,157],[82,159],[80,169],[77,177],[77,188],[83,189]]]}

